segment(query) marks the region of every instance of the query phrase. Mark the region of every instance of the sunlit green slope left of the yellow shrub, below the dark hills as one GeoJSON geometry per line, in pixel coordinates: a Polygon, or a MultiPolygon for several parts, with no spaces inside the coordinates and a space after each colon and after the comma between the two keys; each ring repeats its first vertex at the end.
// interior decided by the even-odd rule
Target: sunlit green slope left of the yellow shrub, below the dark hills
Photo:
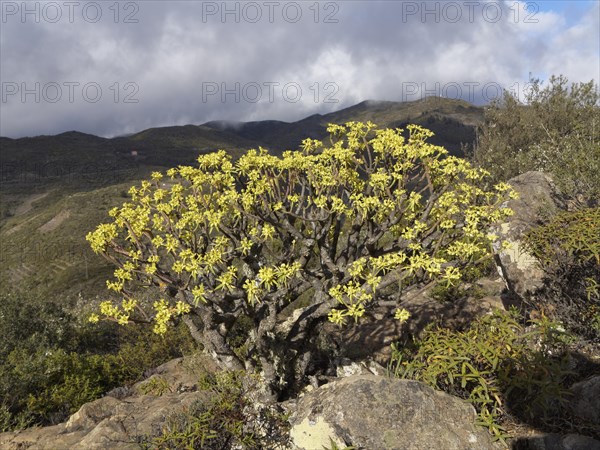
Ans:
{"type": "Polygon", "coordinates": [[[85,240],[108,210],[123,203],[131,182],[88,192],[53,189],[30,195],[0,226],[0,284],[71,303],[106,296],[111,270],[85,240]]]}

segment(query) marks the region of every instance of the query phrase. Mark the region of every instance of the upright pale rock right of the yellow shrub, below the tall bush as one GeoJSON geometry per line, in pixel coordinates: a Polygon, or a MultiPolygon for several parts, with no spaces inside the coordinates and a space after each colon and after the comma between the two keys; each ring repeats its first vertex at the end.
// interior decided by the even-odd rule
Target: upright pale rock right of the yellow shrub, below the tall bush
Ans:
{"type": "Polygon", "coordinates": [[[544,272],[537,260],[523,248],[521,239],[543,217],[565,209],[566,204],[552,178],[545,173],[527,172],[511,179],[509,184],[519,193],[519,198],[507,202],[514,215],[494,229],[500,238],[495,245],[496,261],[507,287],[524,298],[542,286],[544,272]],[[511,247],[501,249],[502,241],[508,241],[511,247]]]}

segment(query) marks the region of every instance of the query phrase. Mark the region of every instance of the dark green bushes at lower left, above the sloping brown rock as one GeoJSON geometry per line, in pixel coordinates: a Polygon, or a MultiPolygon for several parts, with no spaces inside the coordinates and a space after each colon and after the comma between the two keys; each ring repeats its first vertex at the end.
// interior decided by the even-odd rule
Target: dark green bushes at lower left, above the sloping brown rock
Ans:
{"type": "Polygon", "coordinates": [[[58,305],[26,295],[0,298],[0,430],[54,424],[193,341],[178,326],[168,338],[145,327],[81,325],[58,305]]]}

